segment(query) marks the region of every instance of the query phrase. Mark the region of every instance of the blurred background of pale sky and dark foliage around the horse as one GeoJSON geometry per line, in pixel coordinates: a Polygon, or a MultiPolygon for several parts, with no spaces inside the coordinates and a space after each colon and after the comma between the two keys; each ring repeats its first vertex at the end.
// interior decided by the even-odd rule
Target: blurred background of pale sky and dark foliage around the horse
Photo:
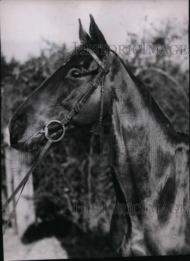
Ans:
{"type": "MultiPolygon", "coordinates": [[[[125,45],[126,53],[129,51],[127,45],[141,45],[141,54],[122,54],[121,57],[151,88],[176,131],[189,133],[188,54],[169,52],[173,44],[179,50],[180,45],[188,46],[188,1],[4,0],[0,5],[1,82],[7,83],[9,88],[12,85],[20,88],[21,102],[59,67],[73,49],[73,42],[79,42],[78,18],[89,31],[89,14],[92,13],[109,45],[116,48],[125,45]],[[146,48],[148,44],[153,49],[159,45],[159,50],[167,48],[169,54],[144,55],[143,41],[147,42],[146,48]]],[[[7,98],[2,94],[2,108],[6,106],[7,98]]],[[[14,101],[12,111],[18,106],[19,100],[14,101]]],[[[8,118],[10,115],[2,117],[2,144],[6,142],[8,118]]],[[[12,183],[9,182],[12,188],[9,189],[8,170],[4,164],[9,157],[5,154],[2,150],[3,202],[16,179],[12,176],[12,183]]],[[[99,165],[100,137],[86,129],[78,129],[59,143],[52,143],[38,164],[39,171],[33,173],[30,195],[25,195],[25,202],[32,200],[33,220],[19,230],[15,214],[10,224],[13,234],[21,240],[17,251],[22,251],[21,244],[55,237],[69,258],[114,256],[109,242],[111,215],[107,211],[105,215],[72,214],[73,200],[92,204],[115,203],[109,168],[105,168],[106,172],[91,171],[99,165]]],[[[25,171],[24,167],[22,171],[25,171]]],[[[3,224],[7,219],[8,215],[4,215],[3,224]]],[[[5,252],[13,239],[10,235],[8,232],[4,241],[5,252]]],[[[35,259],[44,258],[36,254],[35,259]]]]}

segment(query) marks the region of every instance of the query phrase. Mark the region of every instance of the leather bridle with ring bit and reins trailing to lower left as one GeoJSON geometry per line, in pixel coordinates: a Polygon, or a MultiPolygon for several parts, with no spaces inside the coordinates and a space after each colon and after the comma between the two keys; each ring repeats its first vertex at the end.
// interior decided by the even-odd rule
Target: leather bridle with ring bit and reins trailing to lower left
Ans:
{"type": "MultiPolygon", "coordinates": [[[[105,80],[105,76],[106,74],[109,73],[110,71],[110,67],[111,67],[111,64],[112,64],[112,61],[114,59],[114,55],[115,55],[115,52],[109,50],[109,56],[108,56],[108,59],[106,60],[106,63],[104,64],[96,54],[94,54],[94,52],[91,50],[91,49],[87,49],[85,48],[84,50],[86,50],[87,52],[89,52],[89,54],[91,54],[91,56],[94,58],[94,60],[98,63],[98,65],[102,68],[102,70],[100,71],[99,75],[97,76],[97,78],[93,81],[92,85],[90,86],[90,88],[85,92],[85,94],[83,95],[83,97],[81,98],[81,100],[76,104],[76,106],[70,110],[67,115],[64,116],[63,120],[62,121],[58,121],[58,120],[52,120],[52,121],[49,121],[45,128],[44,128],[44,136],[45,136],[45,139],[46,139],[46,144],[44,147],[40,147],[39,149],[39,152],[38,152],[38,155],[34,161],[34,163],[32,164],[32,167],[31,169],[28,171],[28,173],[26,174],[26,176],[24,177],[24,179],[21,181],[21,183],[19,184],[19,186],[15,189],[15,191],[13,192],[13,194],[9,197],[9,199],[6,201],[6,203],[3,205],[2,207],[2,212],[4,211],[4,209],[9,205],[9,203],[13,200],[13,198],[15,197],[15,195],[19,192],[19,190],[21,189],[22,187],[22,190],[20,192],[20,195],[19,195],[19,198],[21,196],[21,193],[23,191],[23,188],[29,178],[29,176],[31,175],[33,169],[36,167],[36,165],[39,163],[39,161],[41,160],[41,158],[44,156],[46,150],[49,148],[49,146],[51,145],[52,142],[57,142],[57,141],[60,141],[64,135],[65,135],[65,124],[67,124],[72,118],[74,115],[77,115],[79,114],[79,111],[80,109],[82,108],[82,106],[85,104],[85,102],[88,100],[88,98],[91,96],[91,94],[97,89],[97,87],[100,85],[101,83],[101,88],[100,88],[100,92],[101,92],[101,97],[100,97],[100,114],[99,114],[99,124],[102,123],[102,118],[103,118],[103,103],[104,103],[104,80],[105,80]],[[62,136],[57,139],[57,140],[52,140],[51,138],[48,137],[48,126],[51,124],[51,123],[58,123],[61,128],[62,128],[62,136]]],[[[14,206],[14,209],[13,211],[11,212],[11,215],[9,217],[9,220],[7,221],[7,223],[5,224],[4,228],[3,228],[3,235],[5,233],[5,230],[7,229],[8,227],[8,224],[13,216],[13,213],[15,211],[15,208],[16,208],[16,205],[19,201],[19,198],[17,199],[16,201],[16,204],[14,206]]]]}

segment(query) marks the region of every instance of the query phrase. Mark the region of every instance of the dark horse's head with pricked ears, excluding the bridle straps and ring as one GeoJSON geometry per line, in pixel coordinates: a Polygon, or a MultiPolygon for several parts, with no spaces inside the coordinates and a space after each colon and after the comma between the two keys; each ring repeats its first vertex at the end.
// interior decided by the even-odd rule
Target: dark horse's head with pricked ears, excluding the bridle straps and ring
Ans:
{"type": "MultiPolygon", "coordinates": [[[[32,150],[38,144],[44,144],[44,128],[51,120],[62,120],[77,104],[90,84],[102,70],[86,48],[93,49],[93,53],[105,64],[109,56],[106,40],[90,15],[90,35],[84,30],[79,19],[79,39],[81,45],[76,47],[62,63],[62,65],[47,78],[22,104],[19,116],[13,117],[9,123],[11,146],[21,145],[24,137],[29,137],[27,144],[32,150]],[[32,130],[32,132],[31,132],[32,130]]],[[[121,64],[120,64],[121,65],[121,64]]],[[[109,87],[115,81],[118,59],[114,61],[109,74],[105,77],[103,118],[109,110],[109,87]]],[[[66,126],[66,133],[80,127],[90,127],[98,121],[100,110],[100,87],[94,90],[78,115],[75,115],[66,126]]],[[[48,127],[48,135],[52,139],[60,137],[61,126],[52,123],[48,127]]],[[[25,144],[26,145],[26,144],[25,144]]]]}

